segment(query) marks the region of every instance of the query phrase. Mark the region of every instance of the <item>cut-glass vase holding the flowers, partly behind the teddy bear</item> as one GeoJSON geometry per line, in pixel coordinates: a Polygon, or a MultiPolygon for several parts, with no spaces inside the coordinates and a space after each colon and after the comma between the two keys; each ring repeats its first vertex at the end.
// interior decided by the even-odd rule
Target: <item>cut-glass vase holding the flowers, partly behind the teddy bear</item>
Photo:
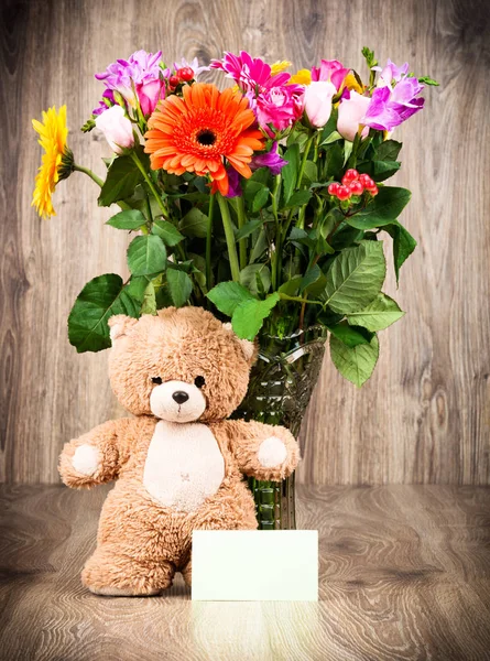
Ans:
{"type": "MultiPolygon", "coordinates": [[[[233,416],[284,425],[298,438],[322,368],[326,335],[322,325],[283,337],[262,333],[247,397],[233,416]]],[[[303,451],[301,446],[302,456],[303,451]]],[[[254,478],[248,481],[255,500],[259,530],[294,530],[294,474],[281,483],[254,478]]]]}

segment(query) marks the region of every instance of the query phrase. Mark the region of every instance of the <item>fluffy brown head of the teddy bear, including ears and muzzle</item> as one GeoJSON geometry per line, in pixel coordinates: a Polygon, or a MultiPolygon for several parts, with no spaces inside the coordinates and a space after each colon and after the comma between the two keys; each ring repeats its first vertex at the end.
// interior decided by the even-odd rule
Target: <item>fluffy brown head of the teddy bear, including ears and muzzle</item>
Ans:
{"type": "Polygon", "coordinates": [[[109,318],[109,376],[134,415],[171,422],[228,418],[246,395],[253,343],[200,307],[166,307],[139,319],[109,318]]]}

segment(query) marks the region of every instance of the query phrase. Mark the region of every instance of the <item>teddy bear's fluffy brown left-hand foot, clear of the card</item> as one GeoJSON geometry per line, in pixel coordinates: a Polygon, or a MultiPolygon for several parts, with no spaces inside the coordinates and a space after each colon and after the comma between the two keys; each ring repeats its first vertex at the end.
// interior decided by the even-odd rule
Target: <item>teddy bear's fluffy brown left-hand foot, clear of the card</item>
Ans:
{"type": "Polygon", "coordinates": [[[171,587],[174,574],[172,562],[135,560],[115,545],[102,544],[86,562],[81,583],[96,595],[151,596],[171,587]]]}

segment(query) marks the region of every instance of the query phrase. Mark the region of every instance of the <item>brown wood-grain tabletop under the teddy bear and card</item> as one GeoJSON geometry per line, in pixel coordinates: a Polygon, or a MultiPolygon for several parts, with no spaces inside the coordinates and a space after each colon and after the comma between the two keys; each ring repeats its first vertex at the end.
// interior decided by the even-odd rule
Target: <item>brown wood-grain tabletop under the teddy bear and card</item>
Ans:
{"type": "MultiPolygon", "coordinates": [[[[79,582],[106,489],[2,487],[0,658],[490,659],[490,489],[301,489],[318,604],[96,597],[79,582]]],[[[286,579],[286,577],[285,577],[286,579]]]]}

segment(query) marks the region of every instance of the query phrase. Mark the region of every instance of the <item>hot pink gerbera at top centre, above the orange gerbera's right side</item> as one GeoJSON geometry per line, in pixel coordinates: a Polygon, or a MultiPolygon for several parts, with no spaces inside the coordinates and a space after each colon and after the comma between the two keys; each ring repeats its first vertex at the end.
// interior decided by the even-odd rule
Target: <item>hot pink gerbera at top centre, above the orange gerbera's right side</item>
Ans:
{"type": "Polygon", "coordinates": [[[272,76],[271,65],[247,51],[240,51],[240,55],[226,52],[222,59],[211,59],[210,68],[225,72],[226,77],[232,78],[243,91],[265,91],[285,85],[291,78],[286,73],[272,76]]]}

